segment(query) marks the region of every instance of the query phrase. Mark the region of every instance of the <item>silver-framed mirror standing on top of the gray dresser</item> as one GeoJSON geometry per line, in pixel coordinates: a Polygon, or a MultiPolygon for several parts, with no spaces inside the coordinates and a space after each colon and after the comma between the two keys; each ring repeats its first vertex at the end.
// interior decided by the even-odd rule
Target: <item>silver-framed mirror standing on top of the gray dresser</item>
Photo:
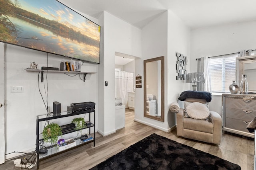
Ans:
{"type": "Polygon", "coordinates": [[[256,55],[236,57],[236,84],[240,87],[242,74],[246,74],[248,92],[256,93],[256,55]]]}

